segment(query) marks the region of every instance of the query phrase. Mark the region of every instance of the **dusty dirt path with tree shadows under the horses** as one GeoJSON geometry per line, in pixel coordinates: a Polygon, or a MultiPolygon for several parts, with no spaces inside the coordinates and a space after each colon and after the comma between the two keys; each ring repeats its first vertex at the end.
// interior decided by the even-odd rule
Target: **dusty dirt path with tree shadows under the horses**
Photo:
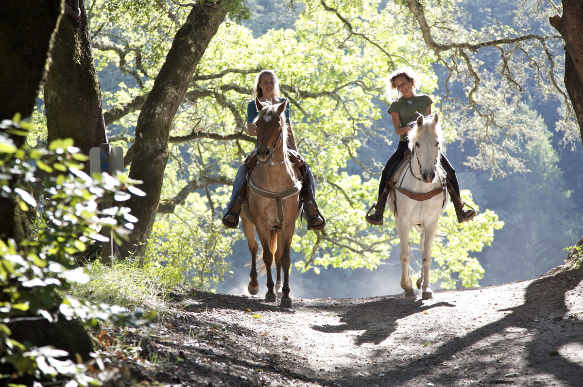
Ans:
{"type": "MultiPolygon", "coordinates": [[[[260,288],[261,289],[261,288],[260,288]]],[[[264,290],[260,290],[263,292],[264,290]]],[[[123,337],[146,384],[583,386],[583,270],[404,296],[296,299],[174,294],[159,332],[123,337]],[[149,361],[148,361],[149,360],[149,361]]]]}

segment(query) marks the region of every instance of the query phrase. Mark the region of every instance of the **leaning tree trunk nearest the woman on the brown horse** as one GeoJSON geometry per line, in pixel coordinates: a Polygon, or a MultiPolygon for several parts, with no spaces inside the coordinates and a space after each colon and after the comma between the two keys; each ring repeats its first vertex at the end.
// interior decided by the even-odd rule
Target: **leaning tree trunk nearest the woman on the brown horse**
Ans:
{"type": "Polygon", "coordinates": [[[138,117],[129,177],[143,182],[139,187],[146,196],[132,196],[127,202],[132,214],[139,220],[130,240],[120,248],[124,257],[139,254],[152,231],[168,161],[167,145],[172,120],[198,62],[226,15],[227,9],[222,0],[192,6],[184,26],[174,37],[166,61],[138,117]]]}

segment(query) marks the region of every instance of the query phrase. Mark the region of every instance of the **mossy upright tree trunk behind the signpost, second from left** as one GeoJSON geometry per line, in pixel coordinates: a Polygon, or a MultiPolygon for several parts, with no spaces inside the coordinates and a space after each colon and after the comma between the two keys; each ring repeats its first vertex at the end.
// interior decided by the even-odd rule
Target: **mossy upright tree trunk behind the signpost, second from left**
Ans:
{"type": "MultiPolygon", "coordinates": [[[[44,86],[48,141],[72,138],[83,154],[107,143],[101,89],[83,0],[65,1],[44,86]],[[80,17],[77,17],[80,12],[80,17]]],[[[89,172],[89,163],[85,165],[89,172]]]]}

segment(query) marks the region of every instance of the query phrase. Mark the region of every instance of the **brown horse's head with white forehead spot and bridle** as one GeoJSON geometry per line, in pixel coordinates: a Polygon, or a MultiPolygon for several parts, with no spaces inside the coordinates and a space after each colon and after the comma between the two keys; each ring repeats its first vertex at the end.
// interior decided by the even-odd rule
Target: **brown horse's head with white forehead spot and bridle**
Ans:
{"type": "MultiPolygon", "coordinates": [[[[287,147],[287,127],[283,114],[287,100],[272,105],[271,102],[261,102],[255,97],[255,106],[259,114],[255,119],[257,126],[257,159],[260,163],[271,162],[273,153],[281,146],[287,147]],[[281,139],[281,141],[280,141],[281,139]]],[[[285,157],[286,152],[283,152],[285,157]]]]}

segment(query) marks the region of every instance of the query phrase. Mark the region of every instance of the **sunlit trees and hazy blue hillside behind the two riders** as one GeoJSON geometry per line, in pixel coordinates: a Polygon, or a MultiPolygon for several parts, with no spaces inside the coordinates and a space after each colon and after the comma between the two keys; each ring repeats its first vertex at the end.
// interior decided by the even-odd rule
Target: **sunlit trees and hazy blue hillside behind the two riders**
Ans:
{"type": "MultiPolygon", "coordinates": [[[[163,268],[168,281],[182,281],[187,274],[203,289],[243,292],[247,244],[240,229],[224,229],[220,216],[236,168],[254,146],[244,132],[245,106],[257,72],[268,68],[276,70],[291,101],[298,148],[314,170],[328,219],[319,233],[298,222],[291,274],[295,296],[401,292],[394,223],[373,228],[364,222],[364,212],[375,201],[380,170],[396,146],[385,113],[395,96],[384,95],[384,89],[388,73],[403,66],[422,75],[421,91],[431,95],[433,111],[444,118],[445,148],[463,196],[479,208],[479,216],[464,225],[456,224],[448,208],[441,221],[448,239],[434,248],[432,282],[445,288],[511,282],[563,261],[563,248],[581,233],[581,143],[571,134],[574,118],[564,118],[564,100],[550,90],[553,80],[545,69],[521,67],[525,56],[535,55],[527,41],[503,55],[495,45],[476,50],[471,62],[482,84],[473,96],[479,107],[472,109],[468,69],[450,75],[422,41],[403,3],[250,0],[247,5],[250,19],[236,23],[227,17],[219,27],[171,124],[161,202],[143,251],[146,265],[163,268]],[[346,33],[346,23],[354,30],[358,26],[363,36],[346,33]],[[520,83],[520,95],[512,91],[510,78],[520,83]],[[564,123],[569,119],[571,129],[564,123]]],[[[436,13],[426,16],[432,23],[468,41],[513,32],[555,34],[547,19],[553,9],[541,8],[544,2],[431,6],[436,13]]],[[[116,108],[135,105],[152,88],[185,11],[171,6],[172,20],[164,14],[168,9],[152,7],[138,12],[101,2],[87,5],[106,123],[116,108]]],[[[550,73],[562,81],[561,40],[546,44],[556,62],[550,73]]],[[[36,141],[42,142],[45,110],[38,107],[33,123],[36,141]]],[[[107,126],[110,143],[124,154],[134,143],[139,113],[127,109],[107,126]]],[[[34,136],[29,143],[35,145],[34,136]]],[[[413,257],[419,257],[415,246],[413,257]]]]}

